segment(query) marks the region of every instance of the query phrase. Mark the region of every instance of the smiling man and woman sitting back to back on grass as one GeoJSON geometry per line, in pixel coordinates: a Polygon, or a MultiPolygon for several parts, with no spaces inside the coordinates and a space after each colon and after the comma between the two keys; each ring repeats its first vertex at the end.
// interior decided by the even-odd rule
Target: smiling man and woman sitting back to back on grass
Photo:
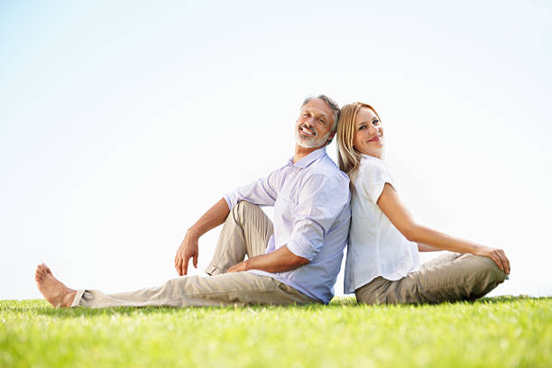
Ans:
{"type": "Polygon", "coordinates": [[[372,106],[308,97],[295,124],[293,157],[235,189],[189,227],[176,253],[178,278],[143,290],[72,290],[44,263],[35,280],[56,308],[327,304],[345,246],[345,293],[366,304],[439,303],[485,295],[507,278],[500,249],[418,225],[382,161],[384,130],[372,106]],[[339,168],[326,152],[337,136],[339,168]],[[341,170],[340,170],[341,169],[341,170]],[[274,207],[273,223],[260,206],[274,207]],[[207,276],[198,239],[223,225],[207,276]],[[419,252],[449,251],[419,265],[419,252]],[[247,256],[247,258],[245,258],[247,256]]]}

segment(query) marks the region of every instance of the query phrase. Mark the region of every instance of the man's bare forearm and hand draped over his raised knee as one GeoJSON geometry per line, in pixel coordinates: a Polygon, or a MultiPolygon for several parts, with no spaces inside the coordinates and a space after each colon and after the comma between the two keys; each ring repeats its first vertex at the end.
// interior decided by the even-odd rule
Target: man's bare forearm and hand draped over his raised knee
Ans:
{"type": "Polygon", "coordinates": [[[194,267],[198,268],[199,237],[212,228],[224,223],[229,213],[230,209],[226,204],[225,198],[221,198],[216,202],[215,206],[209,208],[207,212],[188,229],[174,258],[174,268],[179,272],[180,276],[188,274],[188,262],[192,257],[194,267]]]}

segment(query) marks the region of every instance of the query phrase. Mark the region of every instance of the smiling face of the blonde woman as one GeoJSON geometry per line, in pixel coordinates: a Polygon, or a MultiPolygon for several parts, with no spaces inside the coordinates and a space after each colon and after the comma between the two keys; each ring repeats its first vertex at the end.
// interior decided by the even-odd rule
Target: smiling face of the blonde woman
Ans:
{"type": "Polygon", "coordinates": [[[382,159],[383,126],[373,110],[363,107],[354,120],[353,148],[368,156],[382,159]]]}

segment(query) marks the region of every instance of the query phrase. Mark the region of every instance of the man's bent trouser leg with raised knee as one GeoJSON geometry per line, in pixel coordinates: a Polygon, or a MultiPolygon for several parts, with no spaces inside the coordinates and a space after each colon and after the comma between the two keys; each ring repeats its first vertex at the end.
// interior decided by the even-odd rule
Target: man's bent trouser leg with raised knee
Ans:
{"type": "Polygon", "coordinates": [[[232,208],[218,237],[213,260],[205,270],[209,275],[224,273],[236,263],[266,252],[274,233],[271,219],[261,207],[241,201],[232,208]]]}

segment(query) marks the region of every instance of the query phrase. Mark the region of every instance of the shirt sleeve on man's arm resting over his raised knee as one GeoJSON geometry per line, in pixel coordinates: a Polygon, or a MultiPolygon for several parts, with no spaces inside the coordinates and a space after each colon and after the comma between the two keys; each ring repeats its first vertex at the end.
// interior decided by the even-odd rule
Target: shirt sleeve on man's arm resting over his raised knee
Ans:
{"type": "Polygon", "coordinates": [[[246,200],[259,206],[274,206],[276,197],[278,197],[278,177],[280,170],[272,171],[267,177],[257,179],[252,183],[235,189],[233,192],[225,194],[226,204],[232,209],[235,205],[246,200]]]}

